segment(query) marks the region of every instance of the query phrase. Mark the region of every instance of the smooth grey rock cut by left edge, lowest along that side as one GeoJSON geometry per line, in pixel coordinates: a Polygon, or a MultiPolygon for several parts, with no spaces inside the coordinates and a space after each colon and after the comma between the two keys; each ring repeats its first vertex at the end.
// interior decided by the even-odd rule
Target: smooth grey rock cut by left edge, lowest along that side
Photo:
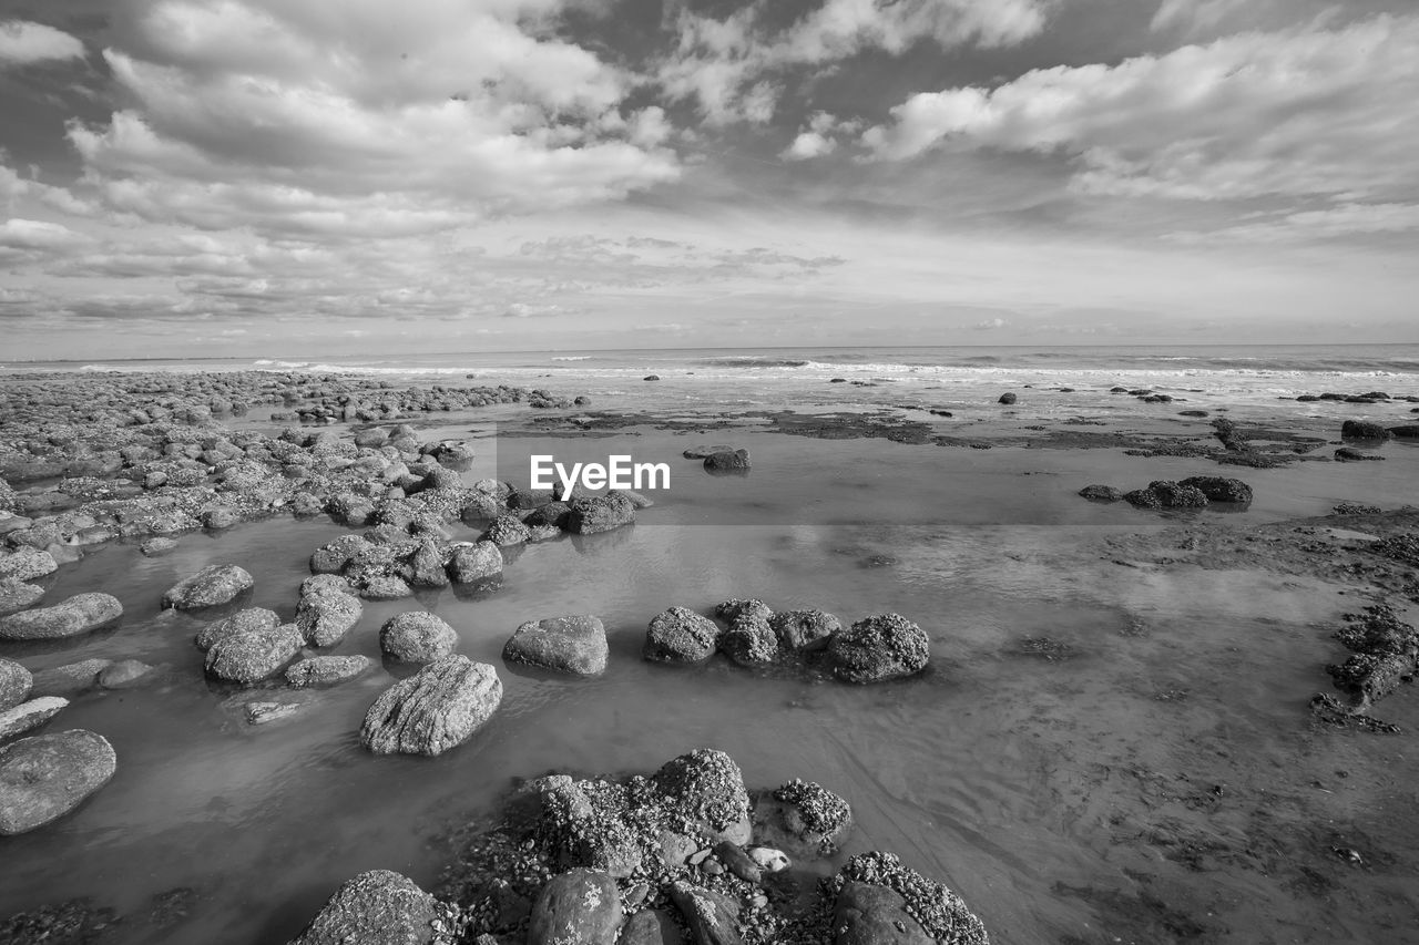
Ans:
{"type": "Polygon", "coordinates": [[[114,746],[84,729],[35,735],[0,748],[0,836],[41,827],[108,783],[114,746]]]}

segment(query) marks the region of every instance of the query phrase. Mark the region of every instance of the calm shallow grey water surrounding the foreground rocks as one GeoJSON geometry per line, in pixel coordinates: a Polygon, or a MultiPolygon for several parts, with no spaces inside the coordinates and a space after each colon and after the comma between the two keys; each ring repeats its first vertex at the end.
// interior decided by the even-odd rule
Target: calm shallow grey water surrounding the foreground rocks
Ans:
{"type": "MultiPolygon", "coordinates": [[[[471,429],[487,427],[455,421],[444,431],[471,429]]],[[[79,697],[51,724],[105,735],[119,770],[77,813],[0,840],[0,915],[88,895],[128,915],[115,942],[280,942],[360,870],[431,885],[447,860],[437,837],[514,779],[648,770],[715,746],[751,786],[802,776],[841,793],[857,820],[847,854],[900,853],[961,892],[1000,942],[1412,934],[1419,844],[1412,827],[1385,836],[1384,824],[1412,813],[1416,753],[1399,741],[1307,735],[1305,700],[1325,688],[1321,667],[1337,651],[1323,621],[1354,600],[1274,575],[1120,566],[1100,553],[1098,536],[1178,516],[1076,495],[1087,482],[1131,488],[1216,467],[1115,450],[975,451],[752,430],[725,437],[752,450],[745,478],[708,477],[678,458],[718,438],[639,429],[509,437],[484,450],[470,481],[525,470],[538,451],[631,453],[673,463],[671,488],[634,526],[509,555],[495,595],[366,604],[332,653],[377,660],[379,626],[419,606],[458,630],[463,653],[498,667],[502,708],[437,759],[373,758],[359,746],[363,712],[390,682],[383,670],[312,694],[292,719],[248,726],[224,707],[233,690],[203,681],[192,646],[200,624],[159,613],[179,578],[234,562],[257,579],[251,606],[289,617],[308,555],[343,528],[271,519],[183,536],[165,558],[115,545],[61,569],[47,600],[105,589],[123,602],[123,623],[62,648],[9,644],[0,654],[33,670],[136,657],[170,675],[79,697]],[[853,688],[759,677],[722,660],[701,670],[640,660],[651,616],[734,596],[844,620],[902,613],[931,634],[934,668],[853,688]],[[606,621],[604,677],[535,678],[502,664],[519,623],[562,613],[606,621]],[[1022,651],[1044,636],[1063,644],[1057,658],[1022,651]],[[1352,772],[1344,782],[1340,766],[1352,772]],[[1318,779],[1334,793],[1320,796],[1318,779]],[[1266,823],[1256,805],[1227,800],[1266,792],[1266,823]],[[1297,871],[1331,843],[1327,820],[1372,840],[1371,873],[1320,888],[1297,871]],[[189,918],[150,925],[149,898],[175,887],[196,890],[189,918]]],[[[1239,470],[1256,504],[1193,516],[1263,522],[1347,498],[1392,507],[1412,498],[1419,451],[1386,455],[1239,470]]],[[[1388,700],[1385,717],[1412,728],[1413,694],[1388,700]]]]}

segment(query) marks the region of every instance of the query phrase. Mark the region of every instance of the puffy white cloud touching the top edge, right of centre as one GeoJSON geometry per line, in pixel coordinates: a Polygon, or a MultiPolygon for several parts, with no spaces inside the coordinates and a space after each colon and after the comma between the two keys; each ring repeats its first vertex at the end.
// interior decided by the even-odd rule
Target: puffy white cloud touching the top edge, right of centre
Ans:
{"type": "Polygon", "coordinates": [[[711,125],[762,123],[772,78],[786,70],[840,62],[868,50],[900,55],[917,43],[941,48],[1005,47],[1044,27],[1050,0],[826,0],[785,30],[762,23],[752,4],[724,20],[683,7],[678,47],[657,79],[674,99],[694,98],[711,125]]]}

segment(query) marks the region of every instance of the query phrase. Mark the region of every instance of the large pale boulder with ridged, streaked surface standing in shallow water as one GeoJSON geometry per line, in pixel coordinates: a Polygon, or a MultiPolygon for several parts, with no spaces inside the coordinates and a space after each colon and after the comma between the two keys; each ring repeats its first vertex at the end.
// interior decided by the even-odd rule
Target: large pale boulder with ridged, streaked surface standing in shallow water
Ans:
{"type": "Polygon", "coordinates": [[[446,656],[375,700],[360,742],[376,755],[440,755],[465,742],[501,701],[497,670],[446,656]]]}

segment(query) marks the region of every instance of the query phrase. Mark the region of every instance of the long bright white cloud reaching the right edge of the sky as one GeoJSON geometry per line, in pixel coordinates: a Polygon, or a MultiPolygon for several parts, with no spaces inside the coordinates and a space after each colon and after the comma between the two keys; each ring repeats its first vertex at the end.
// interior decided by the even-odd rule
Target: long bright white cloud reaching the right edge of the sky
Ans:
{"type": "Polygon", "coordinates": [[[1419,186],[1415,101],[1419,16],[1381,16],[924,92],[863,143],[897,160],[934,149],[1063,153],[1086,193],[1374,197],[1419,186]]]}

